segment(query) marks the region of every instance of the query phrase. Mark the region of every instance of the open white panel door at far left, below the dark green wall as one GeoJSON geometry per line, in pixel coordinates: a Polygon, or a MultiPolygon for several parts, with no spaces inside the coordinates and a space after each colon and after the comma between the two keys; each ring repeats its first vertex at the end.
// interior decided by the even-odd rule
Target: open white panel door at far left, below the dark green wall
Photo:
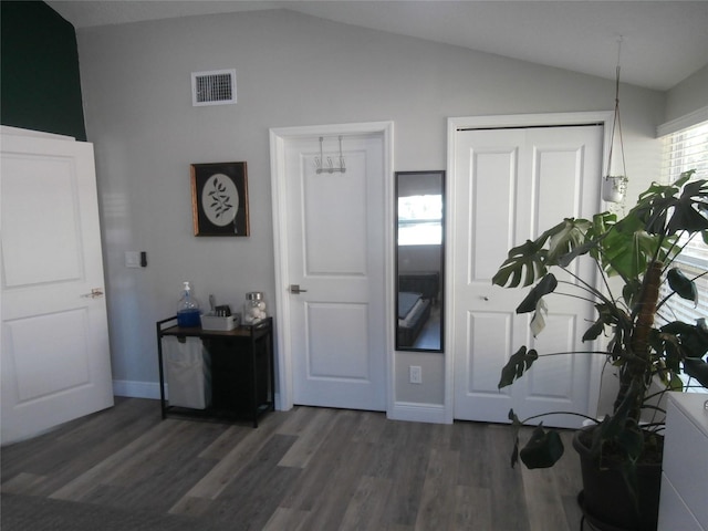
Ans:
{"type": "Polygon", "coordinates": [[[112,406],[113,389],[93,146],[1,142],[7,444],[112,406]]]}

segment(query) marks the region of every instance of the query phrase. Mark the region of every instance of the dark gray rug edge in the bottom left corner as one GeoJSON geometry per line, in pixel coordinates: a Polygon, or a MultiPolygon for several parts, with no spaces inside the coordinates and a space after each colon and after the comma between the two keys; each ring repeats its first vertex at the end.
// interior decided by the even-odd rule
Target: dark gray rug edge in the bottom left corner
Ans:
{"type": "Polygon", "coordinates": [[[112,507],[33,496],[0,498],[2,531],[232,531],[201,518],[126,511],[112,507]]]}

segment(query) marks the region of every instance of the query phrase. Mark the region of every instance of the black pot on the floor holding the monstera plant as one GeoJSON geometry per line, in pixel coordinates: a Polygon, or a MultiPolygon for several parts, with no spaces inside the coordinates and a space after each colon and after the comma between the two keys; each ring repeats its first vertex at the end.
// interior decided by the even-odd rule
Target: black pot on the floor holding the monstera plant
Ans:
{"type": "Polygon", "coordinates": [[[573,448],[580,455],[583,491],[579,503],[589,523],[600,531],[656,531],[662,464],[637,465],[638,510],[617,467],[600,468],[583,442],[584,428],[575,433],[573,448]]]}

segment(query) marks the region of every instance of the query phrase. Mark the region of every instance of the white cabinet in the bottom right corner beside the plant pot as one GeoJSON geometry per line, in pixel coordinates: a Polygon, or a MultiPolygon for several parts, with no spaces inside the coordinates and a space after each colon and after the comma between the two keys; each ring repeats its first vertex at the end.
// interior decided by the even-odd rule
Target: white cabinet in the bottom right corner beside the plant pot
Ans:
{"type": "Polygon", "coordinates": [[[670,393],[658,531],[708,531],[708,394],[670,393]]]}

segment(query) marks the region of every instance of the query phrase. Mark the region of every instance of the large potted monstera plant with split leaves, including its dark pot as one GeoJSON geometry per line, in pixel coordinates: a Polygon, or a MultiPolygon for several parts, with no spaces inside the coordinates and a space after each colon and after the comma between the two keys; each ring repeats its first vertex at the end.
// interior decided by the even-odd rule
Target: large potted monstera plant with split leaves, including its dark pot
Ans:
{"type": "MultiPolygon", "coordinates": [[[[600,353],[616,367],[618,392],[612,414],[576,431],[573,446],[583,472],[579,500],[598,529],[656,529],[663,418],[645,423],[642,414],[647,408],[662,414],[655,405],[656,385],[659,393],[680,391],[686,385],[681,373],[691,385],[708,387],[706,320],[685,322],[670,311],[674,298],[697,301],[695,280],[708,274],[689,278],[674,264],[691,238],[708,244],[708,180],[693,179],[693,174],[683,174],[671,185],[652,185],[622,219],[611,212],[564,219],[537,240],[511,249],[492,280],[507,288],[532,287],[517,313],[533,313],[534,334],[553,296],[585,299],[596,309],[596,320],[582,340],[606,345],[600,353]],[[569,267],[575,260],[594,261],[600,282],[574,274],[569,267]],[[573,281],[559,280],[558,270],[573,281]],[[663,284],[668,288],[663,290],[663,284]],[[652,461],[654,466],[645,465],[652,461]]],[[[499,388],[564,354],[577,353],[539,353],[522,346],[502,368],[499,388]]],[[[542,423],[521,447],[521,428],[543,416],[520,419],[509,413],[517,428],[512,466],[521,459],[529,468],[551,467],[562,456],[559,431],[542,423]]]]}

